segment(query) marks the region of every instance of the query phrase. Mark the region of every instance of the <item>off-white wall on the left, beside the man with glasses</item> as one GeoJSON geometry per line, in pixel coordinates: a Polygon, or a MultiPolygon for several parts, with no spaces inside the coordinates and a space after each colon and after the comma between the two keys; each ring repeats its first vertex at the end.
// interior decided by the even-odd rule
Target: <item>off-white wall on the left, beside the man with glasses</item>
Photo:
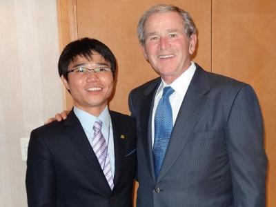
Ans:
{"type": "Polygon", "coordinates": [[[0,207],[27,206],[20,137],[62,110],[55,0],[0,1],[0,207]]]}

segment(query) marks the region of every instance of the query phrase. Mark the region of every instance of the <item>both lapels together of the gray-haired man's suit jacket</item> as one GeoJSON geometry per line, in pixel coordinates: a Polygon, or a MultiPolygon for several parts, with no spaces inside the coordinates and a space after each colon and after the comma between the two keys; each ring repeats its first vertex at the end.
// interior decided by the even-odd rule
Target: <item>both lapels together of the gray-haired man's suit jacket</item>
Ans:
{"type": "MultiPolygon", "coordinates": [[[[204,71],[197,63],[197,69],[193,75],[188,90],[181,103],[181,108],[175,121],[175,126],[172,130],[170,143],[164,158],[164,163],[161,168],[158,180],[166,175],[172,165],[177,160],[177,157],[185,149],[188,142],[188,137],[195,128],[197,121],[201,117],[204,106],[208,101],[206,93],[210,90],[210,84],[207,77],[207,72],[204,71]]],[[[152,108],[155,99],[155,93],[161,82],[161,78],[154,79],[148,83],[148,87],[144,90],[144,97],[141,97],[141,110],[139,124],[141,124],[143,146],[145,149],[147,163],[152,175],[152,180],[155,180],[153,157],[152,157],[152,138],[151,138],[151,119],[152,108]]]]}

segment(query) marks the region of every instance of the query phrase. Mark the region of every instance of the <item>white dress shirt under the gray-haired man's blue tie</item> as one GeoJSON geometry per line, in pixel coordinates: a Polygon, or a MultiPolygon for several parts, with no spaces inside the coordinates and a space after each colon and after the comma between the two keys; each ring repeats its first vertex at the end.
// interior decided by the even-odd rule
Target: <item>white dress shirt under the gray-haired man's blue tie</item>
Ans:
{"type": "Polygon", "coordinates": [[[163,89],[166,86],[172,87],[175,92],[170,95],[170,105],[172,106],[172,124],[175,125],[175,120],[177,119],[177,115],[180,109],[180,106],[182,104],[182,101],[186,95],[186,92],[188,90],[188,86],[190,85],[190,81],[193,78],[193,75],[195,74],[195,63],[191,62],[190,67],[185,70],[175,81],[173,81],[170,84],[167,84],[163,79],[160,83],[159,88],[157,89],[157,92],[155,94],[155,104],[152,109],[152,148],[153,144],[155,143],[155,111],[157,108],[157,104],[159,100],[161,99],[163,95],[163,89]]]}

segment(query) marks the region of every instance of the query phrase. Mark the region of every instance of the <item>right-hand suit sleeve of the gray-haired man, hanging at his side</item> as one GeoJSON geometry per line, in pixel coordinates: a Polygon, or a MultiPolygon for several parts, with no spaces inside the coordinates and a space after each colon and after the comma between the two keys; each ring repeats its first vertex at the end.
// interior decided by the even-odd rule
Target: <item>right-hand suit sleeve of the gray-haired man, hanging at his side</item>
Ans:
{"type": "Polygon", "coordinates": [[[267,159],[262,113],[255,92],[248,85],[235,97],[226,135],[234,206],[265,206],[267,159]]]}

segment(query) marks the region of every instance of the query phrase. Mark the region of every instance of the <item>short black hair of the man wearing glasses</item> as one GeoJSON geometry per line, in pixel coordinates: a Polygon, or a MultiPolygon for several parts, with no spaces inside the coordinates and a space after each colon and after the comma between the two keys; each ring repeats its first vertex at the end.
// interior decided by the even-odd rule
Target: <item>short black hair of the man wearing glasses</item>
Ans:
{"type": "Polygon", "coordinates": [[[115,55],[111,52],[110,48],[97,39],[90,39],[88,37],[78,39],[68,43],[63,49],[59,57],[59,76],[68,80],[68,66],[72,61],[75,61],[78,56],[92,59],[92,52],[98,52],[106,61],[110,63],[113,77],[117,68],[115,55]]]}

